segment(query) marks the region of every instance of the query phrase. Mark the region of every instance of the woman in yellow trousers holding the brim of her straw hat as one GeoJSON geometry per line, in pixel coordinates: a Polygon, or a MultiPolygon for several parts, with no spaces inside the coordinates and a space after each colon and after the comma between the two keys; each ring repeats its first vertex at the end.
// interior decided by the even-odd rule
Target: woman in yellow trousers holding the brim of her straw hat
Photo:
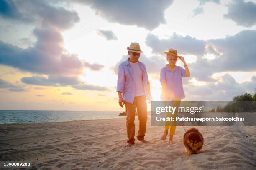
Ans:
{"type": "MultiPolygon", "coordinates": [[[[167,55],[166,59],[169,62],[169,64],[162,68],[160,73],[160,82],[162,85],[161,100],[172,101],[172,107],[179,107],[180,100],[185,98],[182,85],[182,77],[190,76],[189,69],[184,58],[182,56],[177,55],[177,50],[170,48],[169,52],[164,53],[167,55]],[[175,65],[178,58],[184,63],[185,69],[175,65]]],[[[176,115],[177,112],[175,112],[174,114],[167,113],[167,116],[175,117],[176,115]]],[[[174,143],[173,135],[175,134],[176,130],[176,122],[172,124],[170,121],[165,122],[164,134],[161,137],[161,140],[166,140],[169,128],[169,143],[174,143]]]]}

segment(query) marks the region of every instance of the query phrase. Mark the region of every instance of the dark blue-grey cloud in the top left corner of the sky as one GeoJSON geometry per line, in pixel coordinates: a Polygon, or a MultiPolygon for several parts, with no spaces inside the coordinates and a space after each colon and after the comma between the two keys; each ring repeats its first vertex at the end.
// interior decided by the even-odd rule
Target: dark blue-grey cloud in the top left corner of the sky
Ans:
{"type": "Polygon", "coordinates": [[[0,17],[20,23],[40,23],[61,30],[71,28],[80,18],[75,11],[55,7],[46,0],[0,0],[0,17]]]}

